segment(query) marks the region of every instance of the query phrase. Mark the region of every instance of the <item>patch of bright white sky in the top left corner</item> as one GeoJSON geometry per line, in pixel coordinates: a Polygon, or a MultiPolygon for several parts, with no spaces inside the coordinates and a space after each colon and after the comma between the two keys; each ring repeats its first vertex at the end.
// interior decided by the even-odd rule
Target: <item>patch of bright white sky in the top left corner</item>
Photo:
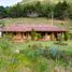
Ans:
{"type": "Polygon", "coordinates": [[[3,6],[11,6],[14,5],[17,2],[20,2],[21,0],[0,0],[0,5],[3,6]]]}

